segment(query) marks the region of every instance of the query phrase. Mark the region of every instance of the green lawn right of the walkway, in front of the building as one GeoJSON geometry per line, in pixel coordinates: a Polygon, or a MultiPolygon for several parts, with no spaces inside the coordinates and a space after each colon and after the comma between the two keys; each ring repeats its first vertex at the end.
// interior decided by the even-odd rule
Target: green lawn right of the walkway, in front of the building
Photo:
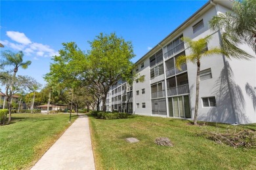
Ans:
{"type": "Polygon", "coordinates": [[[197,135],[205,130],[255,130],[256,124],[193,126],[189,120],[150,116],[89,120],[96,169],[256,169],[256,149],[232,148],[197,135]],[[128,143],[126,137],[140,142],[128,143]],[[174,146],[158,146],[156,137],[168,137],[174,146]]]}

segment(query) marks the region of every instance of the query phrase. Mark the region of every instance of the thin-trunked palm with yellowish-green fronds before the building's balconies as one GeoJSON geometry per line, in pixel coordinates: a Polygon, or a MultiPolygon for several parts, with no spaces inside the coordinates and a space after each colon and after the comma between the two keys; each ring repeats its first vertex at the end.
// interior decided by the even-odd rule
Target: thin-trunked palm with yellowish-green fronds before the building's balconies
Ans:
{"type": "Polygon", "coordinates": [[[192,39],[188,37],[183,37],[182,41],[187,42],[188,48],[190,48],[190,54],[188,56],[179,56],[179,58],[175,61],[175,65],[178,69],[181,69],[181,65],[186,62],[195,63],[197,67],[196,72],[196,106],[194,113],[194,125],[198,125],[198,99],[199,99],[199,85],[200,85],[200,59],[206,56],[213,56],[215,54],[223,54],[223,50],[221,48],[211,48],[207,49],[207,42],[211,39],[210,36],[199,39],[198,41],[192,41],[192,39]]]}

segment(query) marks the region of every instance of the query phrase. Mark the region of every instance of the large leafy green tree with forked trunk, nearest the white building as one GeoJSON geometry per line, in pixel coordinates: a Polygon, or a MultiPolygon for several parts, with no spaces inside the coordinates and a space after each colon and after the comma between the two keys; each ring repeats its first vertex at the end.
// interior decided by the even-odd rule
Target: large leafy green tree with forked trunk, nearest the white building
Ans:
{"type": "Polygon", "coordinates": [[[134,65],[131,59],[135,56],[130,41],[117,37],[116,33],[96,36],[89,42],[89,74],[94,86],[102,93],[102,110],[106,111],[106,97],[112,85],[121,78],[133,78],[134,65]]]}

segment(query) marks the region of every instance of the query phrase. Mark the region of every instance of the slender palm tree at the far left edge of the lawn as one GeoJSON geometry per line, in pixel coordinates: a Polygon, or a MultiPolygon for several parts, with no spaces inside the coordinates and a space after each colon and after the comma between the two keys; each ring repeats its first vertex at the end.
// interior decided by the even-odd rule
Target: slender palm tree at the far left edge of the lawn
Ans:
{"type": "Polygon", "coordinates": [[[11,104],[11,98],[13,95],[14,90],[14,80],[16,79],[16,73],[18,72],[18,68],[22,67],[22,69],[28,68],[28,65],[31,64],[31,61],[23,61],[24,54],[22,51],[18,53],[11,52],[9,50],[4,51],[1,53],[1,56],[3,57],[3,61],[1,63],[2,66],[5,65],[12,65],[14,66],[13,75],[12,75],[12,83],[11,83],[11,90],[9,93],[6,93],[7,95],[7,102],[9,105],[9,122],[11,121],[11,110],[12,110],[12,104],[11,104]]]}

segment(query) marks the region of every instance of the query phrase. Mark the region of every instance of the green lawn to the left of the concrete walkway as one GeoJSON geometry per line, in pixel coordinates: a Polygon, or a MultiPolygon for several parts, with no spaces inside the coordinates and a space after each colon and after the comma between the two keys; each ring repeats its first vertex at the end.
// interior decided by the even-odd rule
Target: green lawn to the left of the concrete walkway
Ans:
{"type": "Polygon", "coordinates": [[[12,114],[11,124],[0,126],[0,169],[31,167],[70,126],[68,121],[69,114],[12,114]]]}

